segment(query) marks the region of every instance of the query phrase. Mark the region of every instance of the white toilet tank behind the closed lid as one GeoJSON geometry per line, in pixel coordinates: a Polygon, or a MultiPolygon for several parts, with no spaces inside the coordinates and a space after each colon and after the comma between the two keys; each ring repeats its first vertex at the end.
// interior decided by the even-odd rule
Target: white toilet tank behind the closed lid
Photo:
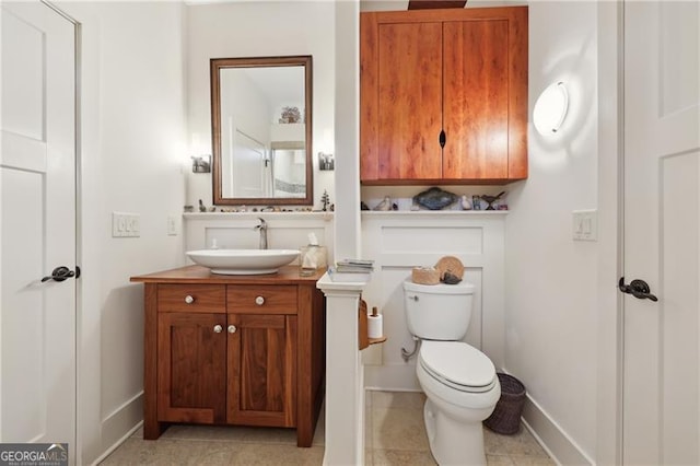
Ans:
{"type": "Polygon", "coordinates": [[[474,284],[418,284],[404,281],[404,306],[411,335],[429,340],[459,340],[469,328],[474,284]]]}

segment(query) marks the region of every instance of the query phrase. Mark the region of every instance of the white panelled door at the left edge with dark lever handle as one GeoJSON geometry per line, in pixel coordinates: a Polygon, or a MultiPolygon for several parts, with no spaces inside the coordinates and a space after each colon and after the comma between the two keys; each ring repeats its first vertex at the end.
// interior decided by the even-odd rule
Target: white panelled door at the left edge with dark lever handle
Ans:
{"type": "Polygon", "coordinates": [[[0,441],[75,447],[74,25],[0,3],[0,441]]]}

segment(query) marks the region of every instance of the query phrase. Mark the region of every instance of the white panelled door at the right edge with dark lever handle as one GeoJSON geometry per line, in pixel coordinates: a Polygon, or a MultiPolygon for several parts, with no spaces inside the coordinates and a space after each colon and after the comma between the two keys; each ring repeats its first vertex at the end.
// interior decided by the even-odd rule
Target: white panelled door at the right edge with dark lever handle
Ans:
{"type": "Polygon", "coordinates": [[[625,3],[623,463],[700,464],[700,2],[625,3]]]}

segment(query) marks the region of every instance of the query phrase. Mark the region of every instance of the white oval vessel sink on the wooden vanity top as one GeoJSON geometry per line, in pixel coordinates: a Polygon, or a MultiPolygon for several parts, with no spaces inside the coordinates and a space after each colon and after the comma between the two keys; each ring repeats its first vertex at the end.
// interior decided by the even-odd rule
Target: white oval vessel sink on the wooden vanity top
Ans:
{"type": "Polygon", "coordinates": [[[275,273],[299,256],[296,249],[201,249],[188,251],[195,264],[209,267],[212,273],[275,273]]]}

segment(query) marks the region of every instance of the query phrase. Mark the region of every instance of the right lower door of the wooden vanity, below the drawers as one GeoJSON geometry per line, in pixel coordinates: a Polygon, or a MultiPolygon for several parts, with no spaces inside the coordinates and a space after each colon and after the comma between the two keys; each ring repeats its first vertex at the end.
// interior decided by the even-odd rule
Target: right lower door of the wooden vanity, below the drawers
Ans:
{"type": "Polygon", "coordinates": [[[229,314],[226,330],[229,423],[295,427],[296,315],[229,314]]]}

